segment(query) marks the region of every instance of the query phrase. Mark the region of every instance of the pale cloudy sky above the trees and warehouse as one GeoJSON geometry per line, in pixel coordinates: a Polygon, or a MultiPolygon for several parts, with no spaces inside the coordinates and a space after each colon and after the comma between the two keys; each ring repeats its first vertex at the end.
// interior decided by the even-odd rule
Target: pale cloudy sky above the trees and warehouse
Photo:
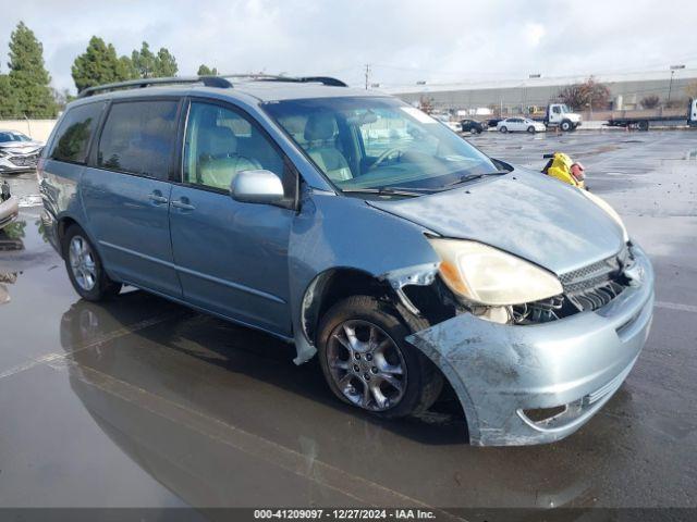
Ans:
{"type": "Polygon", "coordinates": [[[22,20],[52,85],[72,91],[93,35],[119,54],[167,47],[180,75],[206,63],[363,85],[369,64],[381,87],[697,67],[695,0],[23,0],[0,12],[0,73],[22,20]]]}

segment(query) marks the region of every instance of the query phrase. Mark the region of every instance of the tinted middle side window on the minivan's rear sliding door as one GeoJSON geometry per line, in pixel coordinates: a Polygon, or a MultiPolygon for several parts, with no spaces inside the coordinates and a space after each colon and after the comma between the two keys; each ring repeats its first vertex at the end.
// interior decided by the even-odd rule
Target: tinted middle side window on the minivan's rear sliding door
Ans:
{"type": "Polygon", "coordinates": [[[111,105],[99,139],[97,165],[167,179],[176,136],[178,101],[111,105]]]}

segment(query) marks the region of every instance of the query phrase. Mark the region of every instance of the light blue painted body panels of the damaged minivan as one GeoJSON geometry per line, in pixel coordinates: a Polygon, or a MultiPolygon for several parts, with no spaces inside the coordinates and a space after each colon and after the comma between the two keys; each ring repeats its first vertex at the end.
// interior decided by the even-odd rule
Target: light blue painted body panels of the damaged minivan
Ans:
{"type": "MultiPolygon", "coordinates": [[[[332,88],[309,89],[308,98],[335,96],[332,88]]],[[[46,223],[53,232],[52,243],[58,247],[56,235],[61,220],[73,220],[96,245],[111,277],[136,283],[140,276],[139,286],[157,294],[294,340],[296,363],[308,360],[316,351],[313,338],[306,333],[309,323],[317,319],[308,314],[318,306],[322,282],[338,270],[350,269],[384,282],[395,290],[405,284],[428,284],[436,274],[439,259],[426,234],[488,243],[557,273],[589,264],[611,250],[616,252],[621,246],[622,231],[608,215],[573,189],[522,169],[503,178],[411,200],[377,202],[339,196],[266,114],[264,103],[272,100],[236,89],[234,92],[180,87],[166,90],[168,96],[224,101],[255,119],[288,156],[304,182],[297,212],[236,203],[220,194],[201,196],[207,208],[218,209],[216,215],[201,215],[200,222],[189,222],[181,229],[178,226],[171,234],[173,243],[168,246],[161,236],[162,209],[155,204],[148,207],[147,199],[143,198],[159,189],[164,198],[189,197],[191,200],[191,194],[181,186],[171,185],[174,188],[168,192],[162,190],[164,187],[145,184],[136,196],[129,195],[131,189],[118,187],[117,183],[110,187],[113,196],[102,196],[103,208],[98,209],[99,194],[106,194],[109,185],[108,176],[99,178],[106,171],[45,159],[40,189],[46,223]],[[83,173],[85,178],[81,182],[83,173]],[[148,212],[155,212],[154,217],[148,219],[148,212]],[[109,223],[110,213],[112,217],[117,213],[123,215],[109,223]],[[254,223],[254,227],[228,228],[225,220],[230,222],[237,215],[254,223]],[[109,231],[119,220],[119,226],[111,231],[115,234],[113,243],[108,241],[102,228],[109,231]],[[194,232],[205,224],[219,235],[229,232],[230,236],[212,247],[212,236],[194,239],[194,232]],[[140,241],[131,244],[129,238],[118,237],[124,226],[137,235],[138,227],[149,225],[154,226],[140,236],[140,241]],[[149,248],[143,246],[143,238],[151,240],[150,246],[157,248],[138,252],[140,266],[136,271],[120,266],[121,258],[115,252],[125,254],[125,250],[149,248]],[[241,243],[241,247],[249,251],[242,254],[235,251],[241,243]],[[217,256],[208,258],[216,259],[196,259],[195,250],[201,248],[215,248],[217,256]],[[254,273],[261,259],[264,277],[254,273]],[[241,263],[241,272],[234,272],[235,262],[241,263]],[[155,266],[160,266],[161,273],[155,273],[155,266]],[[249,273],[243,274],[244,271],[249,273]],[[201,289],[201,285],[210,288],[201,289]]],[[[347,96],[346,92],[342,90],[341,96],[347,96]]],[[[129,96],[127,91],[108,95],[109,98],[129,96]]],[[[366,95],[355,91],[352,96],[366,95]]],[[[46,150],[50,149],[51,140],[52,137],[46,150]]],[[[133,177],[121,176],[125,182],[133,177]]],[[[167,182],[160,183],[167,185],[167,182]]],[[[182,217],[170,207],[167,225],[170,229],[182,217]]],[[[499,325],[461,314],[408,338],[443,371],[457,393],[474,444],[555,440],[575,431],[610,398],[634,364],[650,325],[652,271],[643,252],[638,248],[636,251],[637,262],[643,266],[637,288],[596,312],[526,327],[499,325]],[[617,318],[633,318],[629,331],[623,332],[626,338],[619,333],[617,318]],[[606,350],[609,355],[602,351],[606,345],[610,347],[606,350]],[[631,349],[622,352],[622,346],[631,349]],[[541,359],[550,353],[550,347],[559,348],[564,355],[552,358],[553,364],[541,359]],[[579,364],[583,353],[591,357],[586,365],[579,364]],[[592,374],[585,376],[583,386],[570,386],[564,380],[573,376],[575,365],[592,374]],[[527,380],[523,382],[537,378],[537,385],[516,388],[521,375],[527,380]],[[561,393],[562,389],[572,391],[561,393]],[[512,402],[509,399],[515,394],[519,397],[512,402]],[[592,407],[578,402],[589,396],[600,399],[592,407]],[[533,427],[519,413],[522,408],[550,406],[559,400],[579,405],[578,411],[567,409],[567,413],[560,417],[559,422],[567,421],[561,427],[533,427]]]]}

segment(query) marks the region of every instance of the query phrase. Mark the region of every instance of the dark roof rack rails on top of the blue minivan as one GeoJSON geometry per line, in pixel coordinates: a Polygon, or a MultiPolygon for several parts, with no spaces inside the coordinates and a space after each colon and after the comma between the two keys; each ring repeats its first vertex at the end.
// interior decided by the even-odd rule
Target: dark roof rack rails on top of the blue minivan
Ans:
{"type": "Polygon", "coordinates": [[[156,85],[182,85],[182,84],[204,84],[206,87],[218,87],[227,89],[233,87],[233,85],[225,78],[248,78],[259,82],[289,82],[297,84],[322,84],[331,87],[347,87],[341,79],[332,78],[330,76],[277,76],[272,74],[227,74],[222,76],[172,76],[169,78],[140,78],[130,79],[127,82],[117,82],[114,84],[97,85],[95,87],[88,87],[77,98],[87,98],[98,92],[108,92],[110,90],[119,89],[136,89],[144,87],[151,87],[156,85]]]}

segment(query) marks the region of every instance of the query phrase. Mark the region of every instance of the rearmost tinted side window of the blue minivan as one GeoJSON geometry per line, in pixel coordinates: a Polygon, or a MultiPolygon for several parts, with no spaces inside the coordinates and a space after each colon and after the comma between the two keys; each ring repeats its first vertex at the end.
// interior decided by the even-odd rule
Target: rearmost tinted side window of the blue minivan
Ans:
{"type": "Polygon", "coordinates": [[[85,163],[103,103],[89,103],[70,109],[61,120],[49,158],[71,163],[85,163]]]}

